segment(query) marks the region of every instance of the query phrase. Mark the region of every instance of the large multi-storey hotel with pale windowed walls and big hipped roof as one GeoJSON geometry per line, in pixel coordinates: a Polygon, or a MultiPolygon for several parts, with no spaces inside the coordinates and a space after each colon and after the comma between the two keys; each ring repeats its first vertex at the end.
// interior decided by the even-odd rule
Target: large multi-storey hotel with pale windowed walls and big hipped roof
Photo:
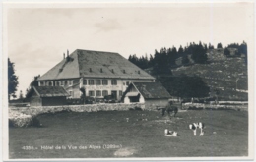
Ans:
{"type": "Polygon", "coordinates": [[[118,53],[75,50],[38,79],[39,86],[63,86],[69,98],[86,96],[120,100],[131,82],[154,82],[155,78],[118,53]]]}

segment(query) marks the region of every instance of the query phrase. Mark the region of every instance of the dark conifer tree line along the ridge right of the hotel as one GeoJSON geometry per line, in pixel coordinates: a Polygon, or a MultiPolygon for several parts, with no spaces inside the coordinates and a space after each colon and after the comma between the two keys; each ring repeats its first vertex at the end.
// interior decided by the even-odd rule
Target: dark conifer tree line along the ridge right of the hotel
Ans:
{"type": "MultiPolygon", "coordinates": [[[[231,43],[224,47],[224,54],[227,57],[230,56],[228,48],[236,48],[235,56],[240,57],[241,54],[244,54],[245,59],[247,59],[247,44],[244,41],[241,44],[231,43]]],[[[192,42],[185,47],[180,45],[179,48],[172,46],[171,48],[162,47],[160,51],[155,49],[155,53],[149,56],[146,54],[145,56],[137,57],[136,54],[133,54],[129,56],[128,60],[142,69],[176,67],[176,60],[178,58],[181,58],[181,65],[188,65],[190,59],[196,64],[206,64],[208,63],[207,51],[209,49],[215,49],[215,47],[211,43],[207,45],[201,41],[198,44],[192,42]]],[[[217,44],[217,49],[223,49],[222,43],[217,44]]]]}

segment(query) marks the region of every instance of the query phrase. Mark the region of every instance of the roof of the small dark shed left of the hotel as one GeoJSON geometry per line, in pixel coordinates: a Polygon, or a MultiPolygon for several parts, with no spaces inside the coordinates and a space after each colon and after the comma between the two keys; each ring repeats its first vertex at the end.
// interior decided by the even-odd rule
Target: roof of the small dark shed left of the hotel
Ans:
{"type": "Polygon", "coordinates": [[[62,86],[32,86],[34,92],[40,97],[69,96],[62,86]]]}

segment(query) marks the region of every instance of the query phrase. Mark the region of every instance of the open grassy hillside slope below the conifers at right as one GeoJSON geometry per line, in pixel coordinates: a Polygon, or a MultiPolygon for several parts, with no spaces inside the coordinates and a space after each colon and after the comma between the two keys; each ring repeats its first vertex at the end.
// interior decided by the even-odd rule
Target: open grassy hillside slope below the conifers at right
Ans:
{"type": "MultiPolygon", "coordinates": [[[[173,76],[199,76],[211,87],[219,89],[222,100],[247,100],[247,65],[244,58],[226,58],[224,50],[208,52],[209,64],[193,64],[172,69],[173,76]]],[[[214,95],[213,92],[211,95],[214,95]]]]}

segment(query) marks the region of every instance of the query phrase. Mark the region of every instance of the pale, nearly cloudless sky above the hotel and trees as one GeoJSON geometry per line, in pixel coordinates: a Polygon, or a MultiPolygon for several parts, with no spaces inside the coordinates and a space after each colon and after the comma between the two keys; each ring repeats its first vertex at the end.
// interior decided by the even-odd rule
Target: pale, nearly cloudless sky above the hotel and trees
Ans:
{"type": "Polygon", "coordinates": [[[161,47],[202,41],[215,47],[252,43],[252,3],[168,3],[137,5],[4,5],[4,51],[15,63],[25,94],[75,49],[117,52],[128,58],[161,47]]]}

